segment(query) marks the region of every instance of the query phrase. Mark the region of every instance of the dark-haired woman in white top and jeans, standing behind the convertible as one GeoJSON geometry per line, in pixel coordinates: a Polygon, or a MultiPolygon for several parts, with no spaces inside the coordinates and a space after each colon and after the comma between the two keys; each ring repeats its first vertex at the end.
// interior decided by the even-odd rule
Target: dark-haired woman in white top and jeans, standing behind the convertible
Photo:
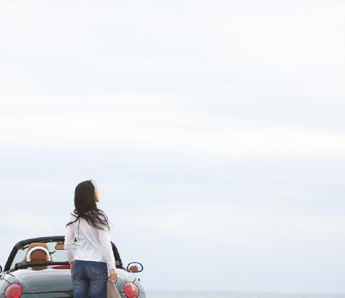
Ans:
{"type": "Polygon", "coordinates": [[[73,297],[107,297],[107,269],[113,281],[117,279],[116,266],[109,236],[109,222],[97,208],[99,193],[92,180],[81,182],[75,188],[75,210],[67,223],[64,249],[71,264],[73,297]],[[77,238],[77,251],[72,251],[77,238]]]}

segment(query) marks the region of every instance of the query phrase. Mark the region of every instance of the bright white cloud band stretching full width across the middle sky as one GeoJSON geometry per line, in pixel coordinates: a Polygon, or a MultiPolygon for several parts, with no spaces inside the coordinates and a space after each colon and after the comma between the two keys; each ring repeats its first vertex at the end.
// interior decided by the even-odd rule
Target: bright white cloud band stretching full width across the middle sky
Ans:
{"type": "Polygon", "coordinates": [[[270,127],[266,123],[219,120],[163,109],[152,113],[114,108],[111,112],[104,109],[77,114],[78,105],[64,108],[73,110],[75,116],[37,115],[34,112],[33,116],[18,113],[18,116],[0,119],[2,147],[130,149],[214,161],[344,158],[345,136],[341,133],[278,125],[270,127]]]}

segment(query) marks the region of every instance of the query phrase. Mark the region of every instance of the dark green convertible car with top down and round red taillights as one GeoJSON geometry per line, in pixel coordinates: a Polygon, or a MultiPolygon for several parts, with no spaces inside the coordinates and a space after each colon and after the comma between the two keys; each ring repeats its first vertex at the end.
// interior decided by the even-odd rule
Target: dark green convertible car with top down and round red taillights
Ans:
{"type": "MultiPolygon", "coordinates": [[[[140,279],[134,273],[143,267],[131,262],[123,267],[114,243],[116,287],[123,298],[146,298],[140,279]]],[[[77,244],[73,244],[73,249],[77,244]]],[[[64,236],[27,239],[14,245],[5,267],[0,266],[0,298],[73,297],[71,271],[64,236]]]]}

